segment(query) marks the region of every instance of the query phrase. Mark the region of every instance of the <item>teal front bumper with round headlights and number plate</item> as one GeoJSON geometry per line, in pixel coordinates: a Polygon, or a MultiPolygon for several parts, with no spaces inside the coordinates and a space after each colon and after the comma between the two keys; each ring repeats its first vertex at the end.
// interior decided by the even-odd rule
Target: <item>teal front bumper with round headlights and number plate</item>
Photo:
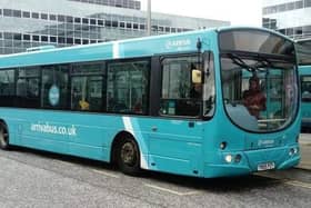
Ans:
{"type": "Polygon", "coordinates": [[[297,166],[300,158],[298,145],[248,151],[219,152],[217,158],[214,158],[218,162],[204,165],[203,177],[231,177],[272,169],[288,169],[297,166]]]}

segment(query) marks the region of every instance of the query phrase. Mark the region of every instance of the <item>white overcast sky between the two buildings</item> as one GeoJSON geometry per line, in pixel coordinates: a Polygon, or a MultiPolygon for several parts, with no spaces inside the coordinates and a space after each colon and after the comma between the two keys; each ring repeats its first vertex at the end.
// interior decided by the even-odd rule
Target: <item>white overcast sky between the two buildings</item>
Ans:
{"type": "MultiPolygon", "coordinates": [[[[141,0],[142,10],[147,1],[141,0]]],[[[232,26],[261,26],[261,0],[151,0],[151,10],[230,21],[232,26]]]]}

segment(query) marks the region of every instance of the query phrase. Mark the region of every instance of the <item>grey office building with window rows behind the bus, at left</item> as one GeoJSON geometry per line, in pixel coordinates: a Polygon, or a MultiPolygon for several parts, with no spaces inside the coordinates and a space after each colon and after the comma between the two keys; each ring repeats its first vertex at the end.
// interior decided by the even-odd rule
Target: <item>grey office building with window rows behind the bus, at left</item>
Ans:
{"type": "MultiPolygon", "coordinates": [[[[229,21],[152,13],[152,34],[229,21]]],[[[147,36],[147,13],[137,0],[1,0],[0,55],[39,46],[68,47],[147,36]]]]}

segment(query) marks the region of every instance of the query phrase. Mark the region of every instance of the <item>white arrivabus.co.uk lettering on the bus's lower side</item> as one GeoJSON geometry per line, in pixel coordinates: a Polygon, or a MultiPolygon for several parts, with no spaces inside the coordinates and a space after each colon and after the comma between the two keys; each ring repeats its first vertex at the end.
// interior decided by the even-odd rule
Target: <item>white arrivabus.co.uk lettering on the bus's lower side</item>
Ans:
{"type": "Polygon", "coordinates": [[[72,137],[77,136],[77,129],[73,125],[71,127],[60,127],[60,126],[50,125],[49,122],[44,122],[44,123],[39,122],[39,123],[31,123],[30,130],[37,132],[53,133],[53,135],[68,135],[72,137]]]}

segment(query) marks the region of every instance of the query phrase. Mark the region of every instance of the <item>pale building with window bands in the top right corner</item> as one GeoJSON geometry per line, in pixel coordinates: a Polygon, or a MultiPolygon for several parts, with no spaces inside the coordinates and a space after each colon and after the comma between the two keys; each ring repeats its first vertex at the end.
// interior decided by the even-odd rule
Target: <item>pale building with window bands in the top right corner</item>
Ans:
{"type": "Polygon", "coordinates": [[[262,27],[293,39],[311,38],[311,0],[263,0],[262,27]]]}

